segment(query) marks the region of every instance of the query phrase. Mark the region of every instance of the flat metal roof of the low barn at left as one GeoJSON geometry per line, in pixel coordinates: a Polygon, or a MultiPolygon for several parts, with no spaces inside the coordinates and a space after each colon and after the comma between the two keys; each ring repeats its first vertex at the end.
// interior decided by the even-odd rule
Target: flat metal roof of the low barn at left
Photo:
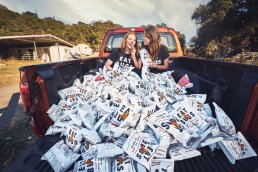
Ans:
{"type": "Polygon", "coordinates": [[[69,47],[73,47],[74,45],[60,39],[51,34],[45,35],[21,35],[21,36],[2,36],[0,37],[0,46],[26,46],[26,45],[33,45],[36,43],[37,46],[44,46],[44,45],[66,45],[69,47]]]}

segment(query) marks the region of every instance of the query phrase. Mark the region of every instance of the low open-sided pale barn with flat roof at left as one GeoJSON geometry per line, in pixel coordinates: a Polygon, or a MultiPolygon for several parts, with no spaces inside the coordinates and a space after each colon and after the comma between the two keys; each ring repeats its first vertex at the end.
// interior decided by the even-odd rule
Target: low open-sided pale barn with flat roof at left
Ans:
{"type": "Polygon", "coordinates": [[[51,34],[0,37],[0,58],[15,57],[43,62],[63,61],[74,45],[51,34]]]}

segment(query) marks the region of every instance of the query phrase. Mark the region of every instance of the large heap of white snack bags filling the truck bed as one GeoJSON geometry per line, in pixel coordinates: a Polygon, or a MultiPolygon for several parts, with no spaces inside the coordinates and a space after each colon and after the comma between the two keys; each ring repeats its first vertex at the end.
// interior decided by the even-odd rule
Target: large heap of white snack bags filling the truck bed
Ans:
{"type": "Polygon", "coordinates": [[[64,136],[43,156],[54,171],[174,171],[174,162],[201,155],[198,148],[222,149],[229,161],[255,151],[205,94],[187,94],[187,75],[114,67],[85,75],[58,92],[46,135],[64,136]],[[215,114],[212,113],[214,107],[215,114]]]}

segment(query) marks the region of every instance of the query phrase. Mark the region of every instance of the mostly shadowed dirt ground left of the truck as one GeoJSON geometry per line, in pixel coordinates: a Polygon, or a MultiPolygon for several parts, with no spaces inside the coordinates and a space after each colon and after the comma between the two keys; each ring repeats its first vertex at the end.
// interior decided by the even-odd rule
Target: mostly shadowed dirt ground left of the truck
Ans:
{"type": "Polygon", "coordinates": [[[19,85],[0,88],[0,171],[36,141],[27,125],[19,85]]]}

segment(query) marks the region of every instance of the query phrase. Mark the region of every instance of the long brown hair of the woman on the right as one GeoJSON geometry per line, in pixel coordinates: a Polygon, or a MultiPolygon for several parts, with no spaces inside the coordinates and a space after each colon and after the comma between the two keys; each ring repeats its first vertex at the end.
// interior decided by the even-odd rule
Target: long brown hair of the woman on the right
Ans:
{"type": "Polygon", "coordinates": [[[158,29],[155,26],[147,26],[144,29],[144,34],[150,39],[150,43],[148,46],[144,46],[142,43],[143,48],[149,48],[149,53],[151,56],[151,60],[157,60],[159,49],[160,49],[160,34],[158,32],[158,29]]]}

